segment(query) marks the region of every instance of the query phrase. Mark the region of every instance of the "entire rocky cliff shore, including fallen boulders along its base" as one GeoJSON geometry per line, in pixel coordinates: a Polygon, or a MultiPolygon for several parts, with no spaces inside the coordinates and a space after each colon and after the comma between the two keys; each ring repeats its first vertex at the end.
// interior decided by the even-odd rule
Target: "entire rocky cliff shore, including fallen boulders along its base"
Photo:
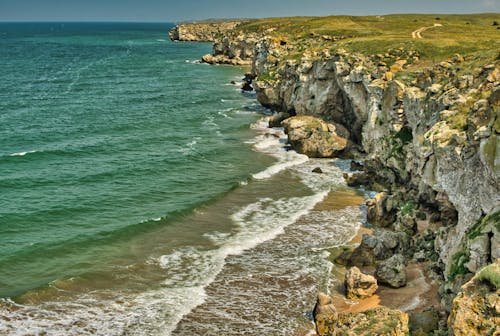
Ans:
{"type": "MultiPolygon", "coordinates": [[[[469,19],[464,27],[476,29],[469,19]]],[[[301,35],[287,34],[283,20],[224,26],[203,61],[251,64],[247,78],[255,78],[257,99],[276,112],[270,126],[283,126],[291,145],[308,156],[353,159],[348,185],[379,192],[367,201],[371,232],[335,251],[336,262],[349,269],[348,297],[363,301],[379,293],[384,303],[384,292],[410,299],[411,286],[425,288],[413,306],[376,302],[364,311],[339,308],[335,295],[320,294],[317,333],[498,333],[498,50],[479,53],[471,46],[464,54],[430,54],[426,45],[408,44],[353,51],[354,42],[366,43],[363,32],[356,31],[355,40],[345,30],[308,34],[299,24],[301,35]]],[[[175,28],[171,37],[183,40],[179,31],[185,29],[175,28]]],[[[198,35],[206,40],[198,33],[189,38],[198,35]]]]}

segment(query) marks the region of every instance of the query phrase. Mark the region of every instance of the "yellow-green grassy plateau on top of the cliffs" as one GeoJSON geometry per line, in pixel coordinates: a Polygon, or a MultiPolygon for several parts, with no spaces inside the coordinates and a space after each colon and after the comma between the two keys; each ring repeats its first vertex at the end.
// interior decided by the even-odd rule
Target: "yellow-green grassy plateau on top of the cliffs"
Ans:
{"type": "MultiPolygon", "coordinates": [[[[418,72],[457,53],[469,56],[463,64],[464,69],[485,64],[486,59],[494,60],[498,56],[496,45],[500,38],[500,29],[492,25],[494,21],[500,22],[500,14],[289,17],[252,20],[237,29],[285,39],[292,50],[284,59],[297,59],[304,50],[343,48],[365,55],[389,54],[393,61],[408,59],[405,72],[418,72]],[[442,26],[423,32],[423,39],[412,38],[413,31],[434,23],[442,26]],[[398,50],[403,54],[398,54],[398,50]],[[409,51],[418,57],[407,57],[405,53],[409,51]]],[[[392,61],[389,59],[386,63],[391,65],[392,61]]],[[[408,77],[411,79],[415,75],[408,77]]]]}

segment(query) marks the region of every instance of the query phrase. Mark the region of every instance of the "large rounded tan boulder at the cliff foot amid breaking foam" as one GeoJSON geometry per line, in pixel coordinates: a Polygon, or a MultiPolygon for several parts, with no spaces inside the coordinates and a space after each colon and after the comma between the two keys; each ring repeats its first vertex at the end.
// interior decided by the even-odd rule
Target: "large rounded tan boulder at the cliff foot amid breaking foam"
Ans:
{"type": "Polygon", "coordinates": [[[295,116],[284,120],[282,125],[293,148],[309,157],[334,157],[347,146],[348,134],[343,127],[315,117],[295,116]]]}

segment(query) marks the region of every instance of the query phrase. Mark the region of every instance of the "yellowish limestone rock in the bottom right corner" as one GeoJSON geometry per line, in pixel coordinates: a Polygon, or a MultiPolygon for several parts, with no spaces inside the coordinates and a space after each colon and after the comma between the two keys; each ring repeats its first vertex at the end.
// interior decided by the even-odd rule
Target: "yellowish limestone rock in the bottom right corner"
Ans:
{"type": "Polygon", "coordinates": [[[500,332],[500,259],[462,287],[453,300],[448,326],[455,336],[500,332]]]}

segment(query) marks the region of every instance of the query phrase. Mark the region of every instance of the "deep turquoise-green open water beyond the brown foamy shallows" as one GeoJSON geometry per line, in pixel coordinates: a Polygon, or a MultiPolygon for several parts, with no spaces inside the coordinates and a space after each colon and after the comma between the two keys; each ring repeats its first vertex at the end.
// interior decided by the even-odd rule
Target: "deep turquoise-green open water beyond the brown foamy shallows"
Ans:
{"type": "Polygon", "coordinates": [[[190,62],[211,46],[168,28],[0,25],[0,296],[86,272],[262,167],[227,85],[242,70],[190,62]]]}

